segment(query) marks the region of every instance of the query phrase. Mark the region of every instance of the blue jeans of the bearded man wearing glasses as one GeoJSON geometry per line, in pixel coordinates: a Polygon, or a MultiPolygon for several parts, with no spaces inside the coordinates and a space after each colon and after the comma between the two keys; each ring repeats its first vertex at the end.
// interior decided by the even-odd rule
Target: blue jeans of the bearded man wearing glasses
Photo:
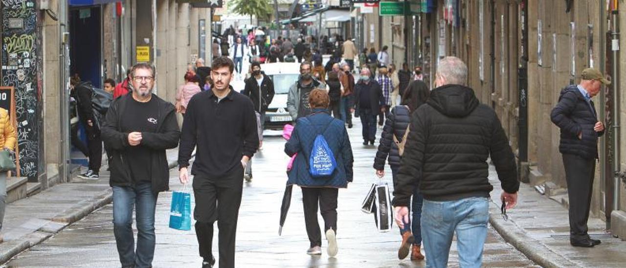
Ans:
{"type": "Polygon", "coordinates": [[[152,267],[155,252],[157,195],[151,183],[133,187],[113,186],[113,233],[122,267],[152,267]],[[133,237],[133,207],[137,220],[137,249],[133,237]]]}

